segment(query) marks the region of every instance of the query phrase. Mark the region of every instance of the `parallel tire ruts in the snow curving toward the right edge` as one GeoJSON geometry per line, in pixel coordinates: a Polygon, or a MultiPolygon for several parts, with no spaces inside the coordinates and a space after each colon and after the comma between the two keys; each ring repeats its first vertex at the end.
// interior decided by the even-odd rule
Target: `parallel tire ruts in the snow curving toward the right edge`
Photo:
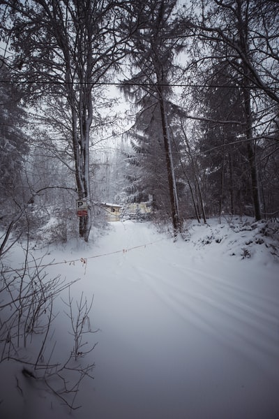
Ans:
{"type": "MultiPolygon", "coordinates": [[[[266,358],[273,358],[274,365],[278,365],[278,318],[271,313],[269,316],[259,314],[258,309],[253,307],[254,300],[250,299],[247,308],[246,302],[235,300],[235,295],[227,298],[220,291],[216,293],[216,290],[212,290],[209,286],[204,287],[202,280],[193,279],[193,275],[190,279],[185,278],[188,286],[186,289],[177,286],[176,279],[165,281],[158,274],[142,267],[137,269],[142,275],[142,281],[167,305],[168,309],[186,323],[199,329],[202,334],[254,360],[258,366],[268,369],[270,360],[267,362],[266,358]],[[197,284],[197,282],[199,290],[190,291],[191,283],[197,284]],[[207,295],[209,292],[210,295],[207,295]],[[223,301],[226,304],[223,304],[223,301]]],[[[185,271],[183,274],[185,275],[185,271]]],[[[206,274],[202,274],[206,278],[206,274]]],[[[197,276],[198,272],[195,272],[195,275],[197,276]]],[[[224,287],[223,289],[225,291],[224,287]]],[[[276,372],[274,368],[269,373],[278,374],[278,369],[276,372]]]]}

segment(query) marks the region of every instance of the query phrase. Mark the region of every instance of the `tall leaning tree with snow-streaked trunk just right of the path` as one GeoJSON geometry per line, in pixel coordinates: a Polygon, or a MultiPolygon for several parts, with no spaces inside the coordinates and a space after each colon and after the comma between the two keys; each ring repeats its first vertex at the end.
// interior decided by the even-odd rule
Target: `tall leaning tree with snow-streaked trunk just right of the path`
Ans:
{"type": "Polygon", "coordinates": [[[170,84],[176,68],[174,58],[181,50],[179,35],[185,28],[175,16],[175,7],[176,0],[135,1],[139,26],[130,40],[131,76],[123,85],[123,91],[140,108],[136,125],[144,132],[148,147],[156,149],[157,141],[163,146],[174,237],[181,228],[181,220],[168,118],[170,84]],[[155,131],[156,135],[152,134],[155,131]]]}

